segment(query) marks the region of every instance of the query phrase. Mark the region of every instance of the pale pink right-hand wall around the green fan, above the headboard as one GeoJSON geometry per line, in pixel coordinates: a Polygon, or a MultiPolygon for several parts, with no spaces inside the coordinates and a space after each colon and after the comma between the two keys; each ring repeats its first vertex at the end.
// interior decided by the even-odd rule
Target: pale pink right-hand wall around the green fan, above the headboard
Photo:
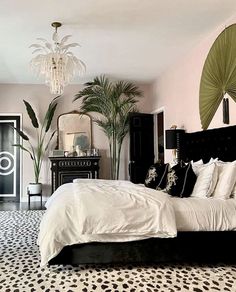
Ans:
{"type": "MultiPolygon", "coordinates": [[[[232,22],[231,22],[232,23],[232,22]]],[[[188,55],[169,67],[153,83],[152,111],[165,109],[165,128],[178,125],[188,132],[200,131],[199,86],[202,68],[207,54],[225,23],[208,36],[188,55]]],[[[236,103],[230,98],[230,125],[236,124],[236,103]]],[[[222,106],[218,108],[209,128],[227,126],[222,121],[222,106]]],[[[166,150],[167,161],[172,159],[171,150],[166,150]]]]}

